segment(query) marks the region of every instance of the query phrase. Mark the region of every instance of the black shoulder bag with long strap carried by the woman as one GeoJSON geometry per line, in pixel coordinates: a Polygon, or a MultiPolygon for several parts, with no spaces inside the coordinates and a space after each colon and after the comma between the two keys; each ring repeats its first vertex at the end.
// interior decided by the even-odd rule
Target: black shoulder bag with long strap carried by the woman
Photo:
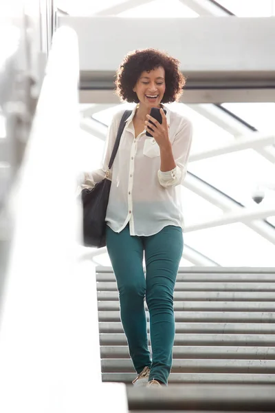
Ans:
{"type": "Polygon", "coordinates": [[[93,189],[83,189],[81,200],[83,204],[83,244],[101,248],[106,246],[106,211],[109,202],[111,181],[108,179],[110,169],[113,166],[115,155],[118,152],[120,138],[125,126],[125,120],[129,118],[131,110],[126,110],[120,120],[118,134],[111,154],[106,176],[98,182],[93,189]]]}

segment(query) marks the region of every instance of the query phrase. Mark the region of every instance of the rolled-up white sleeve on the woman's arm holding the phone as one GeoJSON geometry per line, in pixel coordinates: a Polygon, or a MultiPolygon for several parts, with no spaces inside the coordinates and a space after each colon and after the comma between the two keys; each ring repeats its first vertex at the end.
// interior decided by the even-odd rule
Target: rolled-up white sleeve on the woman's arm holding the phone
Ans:
{"type": "Polygon", "coordinates": [[[186,177],[188,158],[192,143],[192,123],[184,119],[172,143],[172,151],[176,167],[172,171],[158,171],[159,184],[164,188],[181,184],[186,177]]]}

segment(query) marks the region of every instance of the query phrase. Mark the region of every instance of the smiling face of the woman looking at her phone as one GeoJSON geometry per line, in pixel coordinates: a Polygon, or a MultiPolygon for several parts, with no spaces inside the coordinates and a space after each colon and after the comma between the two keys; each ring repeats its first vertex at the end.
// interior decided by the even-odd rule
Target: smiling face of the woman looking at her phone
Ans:
{"type": "Polygon", "coordinates": [[[133,92],[137,94],[140,104],[148,108],[158,107],[165,92],[165,71],[163,67],[155,67],[149,72],[142,72],[133,92]]]}

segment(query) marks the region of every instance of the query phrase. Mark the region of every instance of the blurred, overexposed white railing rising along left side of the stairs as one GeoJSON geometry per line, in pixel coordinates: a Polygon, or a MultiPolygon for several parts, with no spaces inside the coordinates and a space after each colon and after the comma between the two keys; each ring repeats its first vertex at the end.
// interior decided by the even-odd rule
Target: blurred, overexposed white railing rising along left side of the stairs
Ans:
{"type": "Polygon", "coordinates": [[[102,384],[96,275],[78,263],[78,41],[54,34],[10,209],[14,240],[0,324],[0,411],[126,412],[124,385],[102,384]]]}

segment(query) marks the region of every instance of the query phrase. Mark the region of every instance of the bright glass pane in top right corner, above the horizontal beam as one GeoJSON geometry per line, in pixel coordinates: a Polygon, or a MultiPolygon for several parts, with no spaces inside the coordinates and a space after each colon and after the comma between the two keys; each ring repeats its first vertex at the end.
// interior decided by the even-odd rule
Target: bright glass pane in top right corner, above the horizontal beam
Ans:
{"type": "Polygon", "coordinates": [[[273,0],[219,0],[221,6],[239,17],[274,16],[273,0]]]}

